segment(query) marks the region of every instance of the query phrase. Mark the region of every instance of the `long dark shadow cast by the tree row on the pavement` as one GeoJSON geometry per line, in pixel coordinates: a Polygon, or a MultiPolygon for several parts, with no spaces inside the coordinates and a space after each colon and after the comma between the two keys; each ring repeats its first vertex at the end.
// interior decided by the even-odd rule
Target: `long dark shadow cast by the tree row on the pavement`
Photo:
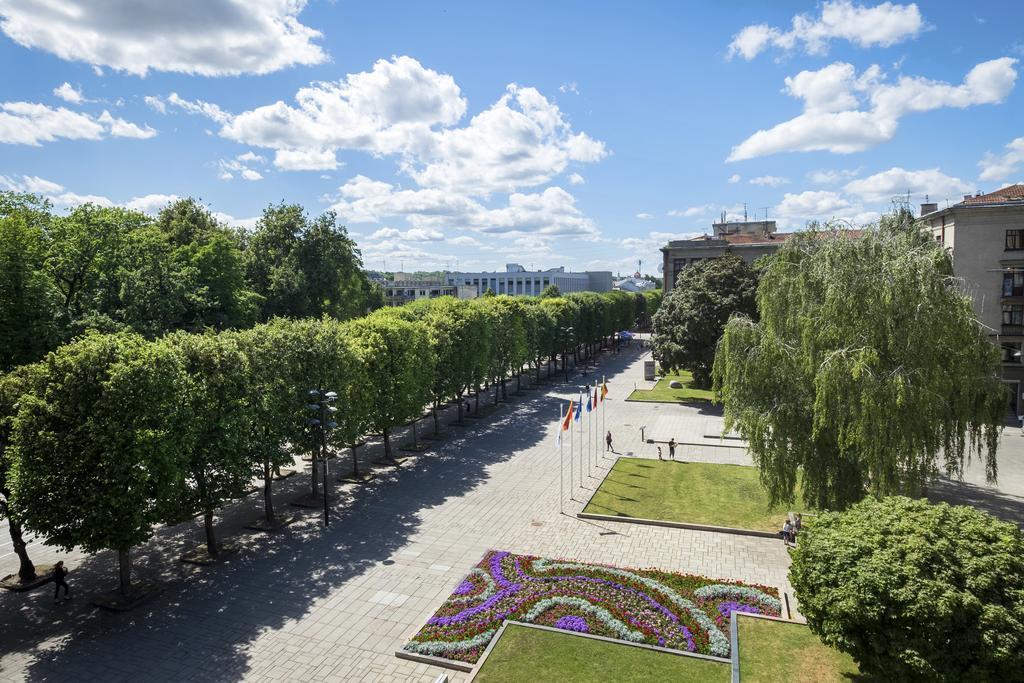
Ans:
{"type": "MultiPolygon", "coordinates": [[[[605,357],[600,370],[608,374],[635,359],[632,353],[605,357]]],[[[546,390],[558,389],[552,382],[546,390]]],[[[332,464],[333,516],[327,529],[317,511],[292,509],[300,519],[285,530],[250,533],[242,527],[262,514],[261,494],[228,505],[218,516],[219,540],[238,543],[242,550],[222,564],[199,568],[179,562],[184,549],[203,542],[201,523],[159,528],[132,556],[135,578],[160,581],[164,590],[130,612],[87,605],[90,595],[116,585],[116,556],[110,552],[73,566],[74,597],[65,605],[54,606],[49,590],[0,595],[0,670],[25,672],[31,681],[259,676],[250,663],[261,634],[294,630],[304,635],[300,620],[314,603],[373,567],[391,563],[389,558],[421,530],[421,510],[466,495],[488,478],[489,466],[536,445],[545,430],[534,426],[552,421],[558,402],[547,393],[524,394],[511,410],[452,433],[434,451],[357,488],[333,482],[350,467],[343,453],[332,464]]],[[[447,417],[455,411],[446,409],[447,417]]],[[[372,460],[375,451],[380,444],[369,443],[359,460],[372,460]]],[[[278,512],[308,485],[308,471],[275,482],[278,512]]],[[[279,665],[290,656],[282,648],[279,665]]]]}

